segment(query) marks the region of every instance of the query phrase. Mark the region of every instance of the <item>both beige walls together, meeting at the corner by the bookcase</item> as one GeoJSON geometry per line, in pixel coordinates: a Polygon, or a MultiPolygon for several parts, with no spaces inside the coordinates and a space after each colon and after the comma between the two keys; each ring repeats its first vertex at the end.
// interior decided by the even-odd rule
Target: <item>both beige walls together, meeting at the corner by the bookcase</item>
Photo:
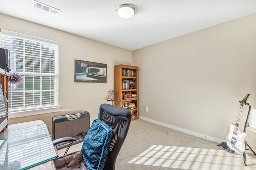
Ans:
{"type": "MultiPolygon", "coordinates": [[[[52,133],[52,116],[89,111],[91,122],[106,92],[114,89],[114,65],[139,66],[139,114],[188,131],[225,140],[235,123],[239,100],[256,108],[256,14],[128,51],[0,14],[0,28],[59,41],[61,111],[10,119],[43,120],[52,133]],[[75,83],[74,59],[105,63],[107,83],[75,83]],[[144,107],[148,106],[148,112],[144,107]]],[[[170,30],[171,31],[171,30],[170,30]]],[[[248,107],[240,121],[243,130],[248,107]]],[[[256,148],[249,129],[249,145],[256,148]]],[[[246,139],[248,139],[246,138],[246,139]]]]}

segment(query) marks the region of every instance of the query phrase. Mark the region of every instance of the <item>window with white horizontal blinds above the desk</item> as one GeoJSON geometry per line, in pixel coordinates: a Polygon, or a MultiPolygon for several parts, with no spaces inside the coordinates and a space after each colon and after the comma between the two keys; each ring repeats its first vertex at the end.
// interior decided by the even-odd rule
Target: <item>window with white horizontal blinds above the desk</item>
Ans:
{"type": "Polygon", "coordinates": [[[58,107],[58,42],[0,30],[0,47],[10,52],[9,113],[58,107]]]}

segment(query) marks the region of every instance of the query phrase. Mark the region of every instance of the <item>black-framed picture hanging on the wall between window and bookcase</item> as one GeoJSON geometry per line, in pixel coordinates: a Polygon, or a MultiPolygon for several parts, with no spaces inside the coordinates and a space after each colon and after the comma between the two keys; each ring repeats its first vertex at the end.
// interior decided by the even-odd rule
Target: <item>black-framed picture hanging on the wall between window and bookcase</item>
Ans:
{"type": "Polygon", "coordinates": [[[107,82],[107,64],[75,60],[75,82],[107,82]]]}

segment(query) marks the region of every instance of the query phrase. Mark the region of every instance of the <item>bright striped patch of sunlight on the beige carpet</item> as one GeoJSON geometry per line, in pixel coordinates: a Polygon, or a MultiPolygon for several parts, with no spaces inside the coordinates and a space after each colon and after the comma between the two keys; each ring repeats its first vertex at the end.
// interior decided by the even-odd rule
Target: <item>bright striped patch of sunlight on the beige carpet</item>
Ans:
{"type": "MultiPolygon", "coordinates": [[[[255,164],[256,160],[246,155],[246,162],[249,166],[250,162],[255,164]]],[[[244,167],[242,154],[231,154],[225,150],[162,145],[152,145],[128,163],[184,170],[244,167]]]]}

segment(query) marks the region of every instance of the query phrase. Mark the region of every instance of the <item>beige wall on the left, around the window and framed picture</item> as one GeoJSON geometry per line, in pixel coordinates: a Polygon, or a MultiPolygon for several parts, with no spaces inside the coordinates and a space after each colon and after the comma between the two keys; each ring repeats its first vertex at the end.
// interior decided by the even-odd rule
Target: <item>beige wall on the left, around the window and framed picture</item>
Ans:
{"type": "Polygon", "coordinates": [[[10,124],[41,119],[52,133],[52,116],[90,112],[90,120],[98,116],[98,108],[106,101],[107,91],[114,90],[114,65],[132,64],[132,51],[82,38],[70,33],[0,14],[0,28],[59,41],[59,106],[58,113],[10,119],[10,124]],[[107,83],[74,82],[74,60],[107,64],[107,83]]]}

